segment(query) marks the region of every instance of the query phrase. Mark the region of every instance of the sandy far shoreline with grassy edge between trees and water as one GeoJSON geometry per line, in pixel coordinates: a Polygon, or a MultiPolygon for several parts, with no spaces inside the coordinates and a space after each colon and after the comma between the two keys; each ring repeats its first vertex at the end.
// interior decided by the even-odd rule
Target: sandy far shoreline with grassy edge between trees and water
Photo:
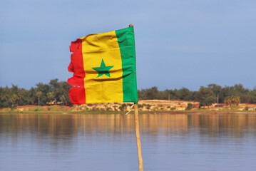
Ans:
{"type": "MultiPolygon", "coordinates": [[[[195,101],[140,100],[139,113],[256,113],[256,104],[213,104],[199,108],[195,101]],[[190,107],[190,108],[188,108],[190,107]]],[[[134,113],[133,103],[93,103],[81,105],[18,105],[0,108],[0,113],[134,113]]]]}

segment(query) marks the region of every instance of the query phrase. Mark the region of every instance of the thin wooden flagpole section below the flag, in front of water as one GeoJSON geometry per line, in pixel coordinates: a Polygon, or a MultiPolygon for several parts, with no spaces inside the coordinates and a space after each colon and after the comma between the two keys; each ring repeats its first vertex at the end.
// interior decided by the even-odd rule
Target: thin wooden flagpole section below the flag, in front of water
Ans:
{"type": "Polygon", "coordinates": [[[135,110],[136,140],[137,140],[137,148],[138,148],[138,165],[139,165],[139,170],[143,171],[143,160],[142,160],[142,152],[141,152],[141,144],[140,144],[140,127],[138,124],[138,104],[134,104],[134,110],[135,110]]]}

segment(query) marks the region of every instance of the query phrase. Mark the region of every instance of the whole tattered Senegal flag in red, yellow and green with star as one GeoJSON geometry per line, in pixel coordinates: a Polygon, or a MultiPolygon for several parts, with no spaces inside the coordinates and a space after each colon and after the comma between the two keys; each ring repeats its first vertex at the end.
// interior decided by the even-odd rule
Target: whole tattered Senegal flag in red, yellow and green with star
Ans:
{"type": "Polygon", "coordinates": [[[71,42],[73,104],[138,102],[133,26],[71,42]]]}

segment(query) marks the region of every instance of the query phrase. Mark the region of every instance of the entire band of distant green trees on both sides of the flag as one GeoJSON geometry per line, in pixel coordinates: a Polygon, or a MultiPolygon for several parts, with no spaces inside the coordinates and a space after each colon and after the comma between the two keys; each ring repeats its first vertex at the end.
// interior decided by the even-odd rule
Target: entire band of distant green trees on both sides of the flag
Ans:
{"type": "MultiPolygon", "coordinates": [[[[38,83],[36,88],[26,90],[12,85],[0,87],[0,108],[16,105],[64,105],[71,103],[68,90],[71,86],[66,81],[51,80],[48,84],[38,83]]],[[[213,103],[226,103],[237,105],[239,103],[256,103],[256,88],[249,90],[242,84],[235,86],[217,86],[210,84],[201,86],[198,91],[190,91],[188,88],[174,90],[158,90],[157,87],[138,90],[139,100],[194,100],[199,101],[200,106],[208,106],[213,103]]]]}

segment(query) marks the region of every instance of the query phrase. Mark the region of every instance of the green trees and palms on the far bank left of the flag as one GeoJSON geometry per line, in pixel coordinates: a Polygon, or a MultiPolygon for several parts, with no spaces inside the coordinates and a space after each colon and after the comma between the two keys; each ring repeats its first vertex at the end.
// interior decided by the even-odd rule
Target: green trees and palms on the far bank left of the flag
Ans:
{"type": "Polygon", "coordinates": [[[0,87],[0,108],[16,105],[64,105],[71,103],[68,90],[71,86],[66,81],[51,80],[48,84],[38,83],[29,90],[12,85],[0,87]]]}

